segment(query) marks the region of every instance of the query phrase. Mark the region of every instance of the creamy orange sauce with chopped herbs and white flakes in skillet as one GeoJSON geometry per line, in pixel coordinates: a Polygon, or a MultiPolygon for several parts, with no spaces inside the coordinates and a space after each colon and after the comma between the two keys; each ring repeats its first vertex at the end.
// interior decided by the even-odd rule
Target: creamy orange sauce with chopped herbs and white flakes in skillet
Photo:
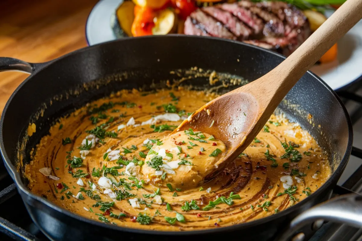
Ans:
{"type": "Polygon", "coordinates": [[[179,231],[273,215],[328,180],[327,156],[311,135],[271,116],[239,158],[202,183],[224,144],[196,130],[160,139],[213,98],[197,91],[125,90],[92,102],[41,139],[25,167],[29,189],[110,225],[179,231]]]}

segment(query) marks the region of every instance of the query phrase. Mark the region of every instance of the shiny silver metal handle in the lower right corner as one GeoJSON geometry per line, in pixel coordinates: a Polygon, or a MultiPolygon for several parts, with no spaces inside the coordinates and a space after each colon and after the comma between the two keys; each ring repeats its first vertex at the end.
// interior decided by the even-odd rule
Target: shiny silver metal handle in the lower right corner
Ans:
{"type": "Polygon", "coordinates": [[[362,195],[357,193],[341,195],[302,212],[290,222],[287,231],[276,240],[302,241],[304,234],[297,231],[311,223],[312,227],[321,226],[323,220],[362,228],[362,195]]]}

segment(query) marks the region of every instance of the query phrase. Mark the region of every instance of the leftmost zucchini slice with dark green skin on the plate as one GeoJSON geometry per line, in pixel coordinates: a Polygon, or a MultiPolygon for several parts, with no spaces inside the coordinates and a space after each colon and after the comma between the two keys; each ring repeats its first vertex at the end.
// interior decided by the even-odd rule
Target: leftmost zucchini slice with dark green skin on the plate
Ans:
{"type": "Polygon", "coordinates": [[[111,17],[111,26],[117,38],[132,36],[131,27],[135,18],[134,7],[135,4],[132,1],[124,1],[111,17]]]}

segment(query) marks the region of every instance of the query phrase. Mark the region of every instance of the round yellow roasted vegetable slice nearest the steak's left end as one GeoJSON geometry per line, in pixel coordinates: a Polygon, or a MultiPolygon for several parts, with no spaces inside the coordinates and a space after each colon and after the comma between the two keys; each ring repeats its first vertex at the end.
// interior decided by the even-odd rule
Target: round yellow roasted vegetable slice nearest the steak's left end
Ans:
{"type": "Polygon", "coordinates": [[[177,30],[176,14],[170,9],[160,10],[154,18],[155,27],[152,28],[153,35],[164,35],[175,33],[177,30]]]}

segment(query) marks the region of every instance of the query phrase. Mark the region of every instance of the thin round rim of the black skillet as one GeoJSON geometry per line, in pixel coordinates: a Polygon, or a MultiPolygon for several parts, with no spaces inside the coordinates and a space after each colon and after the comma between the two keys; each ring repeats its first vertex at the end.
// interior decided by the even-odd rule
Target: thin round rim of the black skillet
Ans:
{"type": "MultiPolygon", "coordinates": [[[[286,59],[285,56],[270,51],[270,50],[266,50],[264,48],[261,47],[257,47],[257,46],[253,46],[250,44],[246,44],[243,42],[239,42],[236,40],[228,40],[228,39],[222,39],[222,38],[216,38],[216,37],[209,37],[209,36],[193,36],[193,35],[182,35],[182,34],[169,34],[169,35],[159,35],[159,36],[142,36],[142,37],[136,37],[134,41],[137,41],[137,39],[153,39],[153,38],[185,38],[185,39],[200,39],[204,41],[219,41],[219,42],[229,42],[232,43],[234,45],[238,44],[238,45],[243,45],[244,47],[247,48],[256,48],[257,50],[266,52],[268,54],[272,54],[278,57],[281,57],[282,59],[286,59]]],[[[42,70],[46,69],[49,65],[52,64],[56,64],[59,60],[67,58],[68,56],[72,56],[72,55],[76,55],[77,53],[80,52],[84,52],[84,51],[89,51],[93,48],[100,48],[100,46],[103,45],[107,45],[107,44],[114,44],[115,42],[127,42],[127,41],[133,41],[133,38],[122,38],[122,39],[117,39],[117,40],[113,40],[113,41],[109,41],[109,42],[105,42],[105,43],[100,43],[100,44],[96,44],[93,46],[87,46],[84,48],[80,48],[79,50],[67,53],[66,55],[60,56],[54,60],[51,60],[49,62],[46,63],[45,66],[43,66],[41,69],[39,69],[39,71],[35,71],[33,74],[30,74],[30,76],[28,76],[17,88],[16,90],[14,90],[14,92],[12,93],[12,95],[10,96],[10,98],[8,99],[7,103],[5,104],[5,107],[3,109],[3,112],[1,114],[1,119],[0,119],[0,152],[1,152],[1,156],[4,160],[4,163],[10,173],[10,176],[12,176],[17,189],[19,191],[22,191],[22,193],[26,194],[27,196],[29,196],[29,198],[34,199],[38,202],[41,202],[42,204],[46,205],[47,207],[51,208],[52,210],[58,211],[61,214],[67,215],[71,218],[74,218],[76,220],[79,221],[83,221],[85,223],[91,224],[91,225],[97,225],[98,227],[102,227],[102,228],[110,228],[113,229],[115,231],[120,231],[120,232],[128,232],[128,233],[135,233],[135,234],[152,234],[152,235],[182,235],[182,236],[188,236],[188,235],[202,235],[202,234],[211,234],[211,233],[219,233],[219,232],[228,232],[228,231],[232,231],[233,229],[247,229],[249,227],[252,226],[256,226],[256,225],[260,225],[260,224],[265,224],[265,223],[269,223],[275,219],[278,219],[282,216],[287,216],[289,215],[291,212],[299,209],[300,207],[306,205],[306,203],[308,202],[308,200],[312,199],[312,197],[316,197],[317,195],[320,195],[321,193],[323,193],[324,191],[327,191],[327,189],[329,188],[329,186],[331,186],[332,182],[334,179],[337,178],[337,176],[340,176],[342,171],[345,169],[345,166],[349,160],[349,156],[351,154],[352,151],[352,144],[353,144],[353,130],[352,130],[352,122],[350,120],[350,116],[347,112],[347,109],[345,108],[344,104],[342,103],[342,101],[340,100],[340,98],[337,96],[336,92],[334,92],[331,87],[329,87],[321,78],[319,78],[318,76],[316,76],[316,74],[312,73],[311,71],[307,71],[306,73],[309,74],[311,77],[315,78],[317,81],[319,81],[321,83],[321,85],[324,86],[325,89],[327,89],[326,91],[329,91],[330,94],[332,94],[334,96],[334,98],[336,98],[339,106],[342,108],[342,111],[344,112],[344,116],[346,118],[347,121],[347,125],[348,125],[348,143],[347,143],[347,148],[346,151],[341,159],[340,164],[338,165],[337,169],[332,173],[331,177],[328,178],[328,180],[319,188],[317,189],[314,193],[312,193],[310,196],[308,196],[307,198],[303,199],[301,202],[298,202],[296,205],[293,205],[292,207],[287,208],[286,210],[283,210],[281,212],[278,212],[277,214],[274,215],[270,215],[268,217],[265,218],[261,218],[261,219],[257,219],[254,221],[250,221],[247,223],[240,223],[240,224],[235,224],[235,225],[231,225],[231,226],[227,226],[227,227],[221,227],[221,228],[210,228],[210,229],[201,229],[201,230],[194,230],[194,231],[155,231],[155,230],[147,230],[147,229],[136,229],[136,228],[128,228],[128,227],[121,227],[121,226],[116,226],[116,225],[109,225],[106,223],[101,223],[99,221],[96,220],[92,220],[92,219],[88,219],[85,218],[83,216],[77,215],[71,211],[68,211],[62,207],[59,207],[57,205],[55,205],[54,203],[48,201],[47,199],[44,199],[34,193],[31,193],[31,191],[26,188],[26,186],[24,185],[24,183],[21,180],[20,177],[20,173],[16,171],[16,168],[13,166],[13,164],[11,163],[6,151],[5,151],[5,147],[4,147],[4,140],[3,140],[3,122],[4,122],[4,116],[7,112],[7,109],[9,107],[9,104],[11,103],[12,99],[14,98],[14,96],[17,94],[17,92],[22,88],[22,86],[30,81],[30,79],[34,76],[36,76],[36,74],[38,72],[41,72],[42,70]]],[[[22,197],[23,201],[24,198],[22,197]]],[[[28,203],[29,205],[29,203],[28,203]]],[[[29,212],[29,211],[28,211],[29,212]]]]}

